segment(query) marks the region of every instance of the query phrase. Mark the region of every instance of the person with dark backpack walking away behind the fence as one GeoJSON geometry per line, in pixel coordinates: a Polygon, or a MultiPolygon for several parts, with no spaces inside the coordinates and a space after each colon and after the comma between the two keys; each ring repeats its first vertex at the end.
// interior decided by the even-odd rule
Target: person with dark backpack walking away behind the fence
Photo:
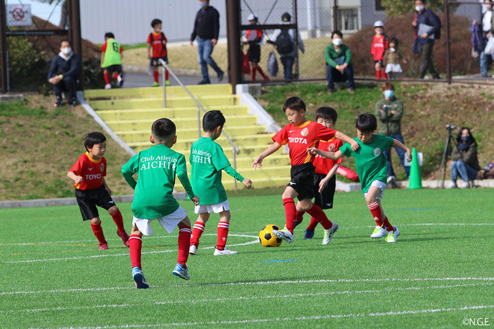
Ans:
{"type": "MultiPolygon", "coordinates": [[[[286,12],[283,15],[281,15],[281,21],[282,21],[281,24],[290,24],[291,19],[292,17],[290,16],[290,14],[286,12]]],[[[298,35],[297,38],[298,49],[300,49],[302,53],[305,53],[304,42],[300,37],[300,33],[297,33],[297,35],[298,35]]],[[[294,29],[283,30],[283,31],[277,29],[274,30],[273,37],[271,38],[271,40],[267,41],[270,44],[276,45],[276,49],[278,50],[279,53],[279,60],[281,61],[281,64],[283,64],[283,72],[285,75],[285,80],[291,80],[293,78],[292,71],[293,71],[293,63],[295,61],[295,51],[294,51],[295,45],[293,43],[293,40],[295,40],[294,29]],[[287,38],[287,34],[288,34],[288,38],[287,38]]]]}

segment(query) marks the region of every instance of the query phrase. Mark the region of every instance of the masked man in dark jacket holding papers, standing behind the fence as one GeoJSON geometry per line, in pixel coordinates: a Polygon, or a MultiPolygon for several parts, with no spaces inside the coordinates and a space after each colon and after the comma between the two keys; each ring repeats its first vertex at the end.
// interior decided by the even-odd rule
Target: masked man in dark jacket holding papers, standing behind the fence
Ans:
{"type": "MultiPolygon", "coordinates": [[[[432,63],[432,49],[434,48],[434,33],[440,29],[440,22],[432,13],[432,10],[425,7],[426,0],[415,0],[415,20],[412,26],[416,29],[416,45],[420,56],[420,79],[424,79],[427,70],[434,79],[440,79],[434,64],[432,63]],[[428,30],[425,32],[425,30],[428,30]]],[[[415,47],[414,47],[415,50],[415,47]]]]}

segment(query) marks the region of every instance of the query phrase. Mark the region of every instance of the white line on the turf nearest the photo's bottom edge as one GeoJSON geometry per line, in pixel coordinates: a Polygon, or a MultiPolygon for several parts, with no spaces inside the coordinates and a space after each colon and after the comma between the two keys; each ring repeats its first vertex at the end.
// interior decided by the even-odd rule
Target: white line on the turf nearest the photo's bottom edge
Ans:
{"type": "MultiPolygon", "coordinates": [[[[294,317],[294,318],[269,318],[269,319],[245,319],[245,320],[217,320],[217,321],[201,321],[201,322],[170,322],[157,324],[124,324],[124,325],[103,325],[103,326],[79,326],[79,327],[58,327],[57,329],[116,329],[116,328],[150,328],[150,327],[168,327],[168,326],[192,326],[192,325],[208,325],[208,324],[243,324],[243,323],[269,323],[280,321],[307,321],[307,320],[324,320],[324,319],[341,319],[341,318],[365,318],[390,315],[404,314],[427,314],[438,312],[455,312],[460,310],[473,309],[488,309],[494,308],[494,305],[474,305],[462,307],[440,307],[427,309],[409,309],[389,312],[373,312],[373,313],[354,313],[354,314],[327,314],[315,315],[310,317],[294,317]]],[[[33,328],[31,328],[33,329],[33,328]]],[[[46,329],[46,328],[45,328],[46,329]]]]}

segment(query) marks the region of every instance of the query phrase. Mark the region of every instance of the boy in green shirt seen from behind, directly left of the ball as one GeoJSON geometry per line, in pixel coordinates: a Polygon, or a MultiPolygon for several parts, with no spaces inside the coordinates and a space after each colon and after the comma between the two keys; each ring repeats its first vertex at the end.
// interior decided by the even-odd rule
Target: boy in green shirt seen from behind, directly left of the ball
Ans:
{"type": "Polygon", "coordinates": [[[218,240],[214,255],[231,255],[237,251],[225,248],[228,228],[230,228],[230,206],[226,198],[225,188],[221,184],[221,171],[251,187],[252,181],[243,178],[230,165],[230,161],[223,153],[221,146],[215,142],[220,137],[225,124],[225,117],[220,111],[209,111],[202,118],[204,133],[190,147],[189,162],[191,164],[190,177],[192,186],[199,195],[201,202],[196,204],[194,212],[199,214],[190,237],[189,253],[195,255],[199,245],[199,238],[204,232],[204,226],[211,212],[220,214],[218,223],[218,240]]]}

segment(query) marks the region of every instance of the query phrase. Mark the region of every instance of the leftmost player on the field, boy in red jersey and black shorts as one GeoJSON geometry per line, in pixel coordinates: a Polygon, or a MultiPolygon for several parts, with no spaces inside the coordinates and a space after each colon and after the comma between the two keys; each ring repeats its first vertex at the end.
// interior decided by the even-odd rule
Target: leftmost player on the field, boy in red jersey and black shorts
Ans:
{"type": "Polygon", "coordinates": [[[107,175],[107,160],[103,156],[107,147],[106,140],[107,138],[99,132],[87,134],[84,137],[84,147],[87,152],[79,157],[67,173],[67,176],[74,180],[82,220],[91,220],[91,228],[101,250],[108,249],[108,243],[104,239],[96,206],[108,210],[117,225],[118,236],[123,244],[129,246],[129,234],[123,228],[122,214],[113,202],[112,191],[104,180],[104,176],[107,175]]]}

